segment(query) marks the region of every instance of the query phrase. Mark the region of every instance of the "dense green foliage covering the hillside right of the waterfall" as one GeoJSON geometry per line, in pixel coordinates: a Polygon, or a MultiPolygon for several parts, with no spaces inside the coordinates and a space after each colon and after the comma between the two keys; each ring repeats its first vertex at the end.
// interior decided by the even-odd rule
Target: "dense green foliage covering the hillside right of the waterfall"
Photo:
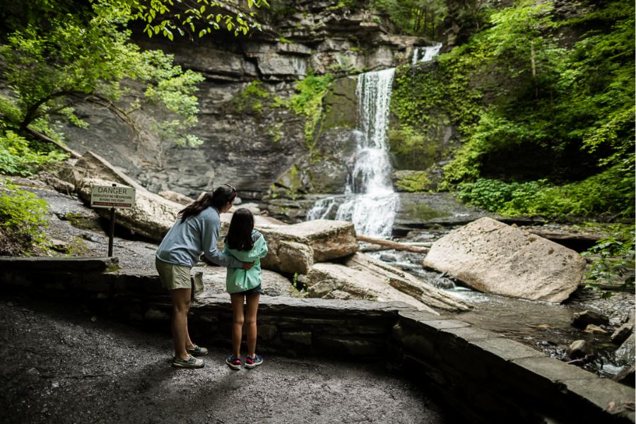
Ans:
{"type": "Polygon", "coordinates": [[[634,5],[584,3],[570,20],[550,1],[483,8],[488,24],[464,45],[397,70],[391,131],[408,128],[406,152],[440,114],[457,129],[440,189],[464,183],[462,198],[506,215],[633,216],[634,5]],[[583,35],[560,38],[572,29],[583,35]]]}

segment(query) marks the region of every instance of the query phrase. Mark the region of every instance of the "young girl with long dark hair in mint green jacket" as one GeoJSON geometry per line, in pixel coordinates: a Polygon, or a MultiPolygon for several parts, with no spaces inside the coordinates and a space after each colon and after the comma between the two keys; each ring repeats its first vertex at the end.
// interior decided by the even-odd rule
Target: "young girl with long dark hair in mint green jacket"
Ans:
{"type": "Polygon", "coordinates": [[[239,370],[241,360],[241,338],[243,323],[247,328],[247,358],[245,367],[254,368],[263,363],[261,355],[256,354],[257,312],[261,297],[261,258],[267,254],[265,238],[254,230],[254,216],[245,208],[238,209],[232,216],[228,236],[225,237],[223,253],[242,262],[254,262],[250,269],[228,267],[225,286],[232,300],[232,355],[225,358],[232,370],[239,370]],[[247,303],[245,317],[243,301],[247,303]]]}

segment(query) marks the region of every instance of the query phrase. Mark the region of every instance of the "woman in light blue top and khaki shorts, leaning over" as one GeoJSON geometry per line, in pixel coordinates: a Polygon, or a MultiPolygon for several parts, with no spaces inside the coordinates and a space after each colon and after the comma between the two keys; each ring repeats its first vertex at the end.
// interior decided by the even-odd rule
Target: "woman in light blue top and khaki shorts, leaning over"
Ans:
{"type": "Polygon", "coordinates": [[[220,230],[220,213],[227,212],[236,198],[236,189],[229,184],[217,187],[192,202],[177,215],[177,221],[167,232],[155,254],[155,266],[162,285],[172,298],[172,338],[175,358],[172,365],[201,368],[204,361],[194,356],[207,355],[208,350],[196,346],[188,334],[190,308],[190,270],[201,253],[214,264],[250,269],[252,263],[242,262],[218,251],[216,242],[220,230]]]}

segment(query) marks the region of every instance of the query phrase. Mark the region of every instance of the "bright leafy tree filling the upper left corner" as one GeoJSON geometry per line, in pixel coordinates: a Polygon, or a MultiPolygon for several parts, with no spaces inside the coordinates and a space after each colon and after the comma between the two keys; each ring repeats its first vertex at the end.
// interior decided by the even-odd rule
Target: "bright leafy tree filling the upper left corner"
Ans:
{"type": "Polygon", "coordinates": [[[164,119],[151,119],[160,136],[199,143],[187,129],[196,124],[194,91],[203,77],[183,71],[163,52],[141,51],[126,25],[144,20],[149,36],[170,40],[173,30],[189,36],[198,30],[203,36],[212,29],[247,33],[258,27],[253,13],[246,17],[238,8],[224,12],[220,6],[208,0],[180,1],[178,7],[172,0],[35,0],[6,8],[0,62],[11,92],[0,95],[4,130],[59,141],[54,122],[86,125],[75,114],[80,102],[106,107],[136,129],[134,113],[155,105],[166,113],[164,119]]]}

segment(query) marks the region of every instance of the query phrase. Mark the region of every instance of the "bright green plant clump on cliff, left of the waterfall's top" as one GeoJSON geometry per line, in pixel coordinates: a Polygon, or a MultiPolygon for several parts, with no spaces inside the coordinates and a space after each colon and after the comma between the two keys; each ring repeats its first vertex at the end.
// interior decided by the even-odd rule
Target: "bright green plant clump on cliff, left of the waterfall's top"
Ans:
{"type": "Polygon", "coordinates": [[[305,115],[305,141],[310,148],[314,144],[314,131],[322,117],[322,99],[331,81],[334,81],[334,77],[329,73],[315,76],[310,72],[295,83],[296,93],[285,103],[296,114],[305,115]]]}

